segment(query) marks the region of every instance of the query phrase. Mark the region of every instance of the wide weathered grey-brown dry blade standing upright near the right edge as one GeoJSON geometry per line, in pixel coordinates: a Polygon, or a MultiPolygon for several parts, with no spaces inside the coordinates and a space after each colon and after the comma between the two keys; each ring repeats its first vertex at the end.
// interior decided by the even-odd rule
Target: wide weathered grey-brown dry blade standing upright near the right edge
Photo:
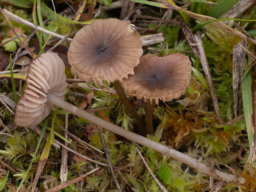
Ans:
{"type": "Polygon", "coordinates": [[[239,44],[246,46],[245,39],[233,47],[233,97],[235,117],[240,115],[240,108],[242,102],[241,84],[245,61],[245,51],[239,44]]]}

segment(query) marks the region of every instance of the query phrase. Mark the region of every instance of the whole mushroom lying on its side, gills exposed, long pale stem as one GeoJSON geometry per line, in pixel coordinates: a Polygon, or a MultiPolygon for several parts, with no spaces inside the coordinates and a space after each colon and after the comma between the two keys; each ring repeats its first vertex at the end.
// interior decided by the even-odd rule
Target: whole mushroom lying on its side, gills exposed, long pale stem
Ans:
{"type": "Polygon", "coordinates": [[[24,95],[20,98],[15,107],[14,121],[16,124],[27,127],[36,126],[43,120],[42,117],[47,116],[49,109],[54,109],[53,105],[56,105],[57,107],[84,118],[93,124],[97,124],[108,131],[126,137],[129,140],[163,153],[164,155],[173,157],[194,167],[198,172],[202,172],[223,181],[244,183],[244,179],[238,175],[228,174],[219,170],[212,171],[212,167],[207,166],[190,156],[125,130],[66,102],[63,99],[63,95],[66,93],[65,87],[67,86],[64,69],[64,63],[63,61],[61,62],[57,53],[41,53],[39,57],[32,60],[28,69],[24,95]],[[55,73],[55,71],[57,71],[57,73],[55,73]],[[32,106],[32,104],[34,106],[32,106]],[[21,113],[28,113],[29,115],[22,116],[21,113]],[[33,115],[32,117],[33,113],[36,115],[33,115]],[[36,116],[40,118],[36,118],[36,116]]]}

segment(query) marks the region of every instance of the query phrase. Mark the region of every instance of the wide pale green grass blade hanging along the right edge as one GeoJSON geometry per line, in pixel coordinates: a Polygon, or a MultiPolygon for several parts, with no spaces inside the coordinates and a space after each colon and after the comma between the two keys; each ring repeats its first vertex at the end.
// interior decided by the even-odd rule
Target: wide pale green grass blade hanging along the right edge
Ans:
{"type": "Polygon", "coordinates": [[[252,149],[253,124],[252,124],[252,90],[251,90],[251,71],[249,71],[242,80],[242,100],[244,106],[244,118],[249,140],[250,149],[252,149]]]}

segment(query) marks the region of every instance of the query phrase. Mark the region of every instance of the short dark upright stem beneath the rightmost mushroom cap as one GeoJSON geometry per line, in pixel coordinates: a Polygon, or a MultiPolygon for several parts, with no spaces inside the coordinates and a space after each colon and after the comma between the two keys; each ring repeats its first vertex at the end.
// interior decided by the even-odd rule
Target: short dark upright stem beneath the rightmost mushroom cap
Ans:
{"type": "Polygon", "coordinates": [[[154,129],[153,129],[153,113],[156,106],[156,101],[153,99],[152,104],[148,100],[148,106],[146,109],[145,114],[145,124],[146,124],[146,133],[153,135],[154,129]]]}

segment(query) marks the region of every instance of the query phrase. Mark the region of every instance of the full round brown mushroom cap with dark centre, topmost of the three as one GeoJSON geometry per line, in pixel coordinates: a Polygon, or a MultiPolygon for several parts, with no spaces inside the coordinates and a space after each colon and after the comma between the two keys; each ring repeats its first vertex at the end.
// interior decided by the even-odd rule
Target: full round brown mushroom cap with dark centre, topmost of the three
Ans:
{"type": "Polygon", "coordinates": [[[140,34],[130,21],[116,18],[93,21],[81,28],[68,49],[71,72],[86,82],[103,84],[127,78],[143,53],[140,34]]]}

